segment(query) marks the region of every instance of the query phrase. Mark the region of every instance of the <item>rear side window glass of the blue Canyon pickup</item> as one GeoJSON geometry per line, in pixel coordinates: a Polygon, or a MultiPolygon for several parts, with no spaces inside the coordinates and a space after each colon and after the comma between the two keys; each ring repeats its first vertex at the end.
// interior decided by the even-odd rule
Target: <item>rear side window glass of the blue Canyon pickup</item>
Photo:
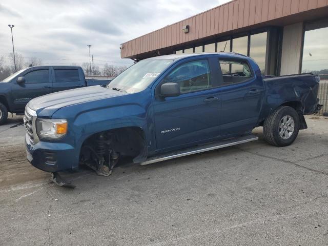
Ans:
{"type": "Polygon", "coordinates": [[[253,77],[252,70],[245,60],[229,58],[219,59],[223,77],[223,86],[239,84],[253,77]]]}

